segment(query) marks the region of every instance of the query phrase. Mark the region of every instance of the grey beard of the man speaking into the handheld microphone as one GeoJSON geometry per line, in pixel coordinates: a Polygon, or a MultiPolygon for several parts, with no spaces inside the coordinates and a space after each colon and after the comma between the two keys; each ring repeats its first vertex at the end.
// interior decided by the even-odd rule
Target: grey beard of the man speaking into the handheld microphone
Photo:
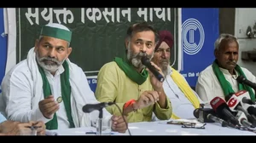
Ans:
{"type": "Polygon", "coordinates": [[[140,52],[140,53],[136,54],[133,51],[131,51],[130,43],[128,44],[127,59],[128,59],[128,61],[131,62],[132,66],[135,66],[138,69],[145,67],[141,60],[143,56],[146,56],[146,57],[148,57],[149,60],[151,60],[153,58],[153,55],[154,54],[147,55],[144,52],[140,52]]]}

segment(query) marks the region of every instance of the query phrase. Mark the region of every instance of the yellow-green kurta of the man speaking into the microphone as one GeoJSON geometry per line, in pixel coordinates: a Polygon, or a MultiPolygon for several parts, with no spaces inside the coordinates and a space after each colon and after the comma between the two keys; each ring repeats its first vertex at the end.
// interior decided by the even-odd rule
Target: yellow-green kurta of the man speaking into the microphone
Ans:
{"type": "MultiPolygon", "coordinates": [[[[137,100],[140,94],[146,90],[154,90],[149,77],[142,85],[138,85],[131,81],[114,61],[102,66],[97,76],[96,99],[100,102],[115,102],[121,112],[123,112],[123,106],[126,101],[137,100]]],[[[170,119],[172,105],[168,98],[166,98],[166,102],[166,109],[160,108],[156,102],[152,106],[137,110],[137,112],[130,112],[127,117],[128,122],[151,121],[153,112],[160,120],[170,119]]],[[[121,115],[117,106],[108,106],[107,110],[113,115],[121,115]]]]}

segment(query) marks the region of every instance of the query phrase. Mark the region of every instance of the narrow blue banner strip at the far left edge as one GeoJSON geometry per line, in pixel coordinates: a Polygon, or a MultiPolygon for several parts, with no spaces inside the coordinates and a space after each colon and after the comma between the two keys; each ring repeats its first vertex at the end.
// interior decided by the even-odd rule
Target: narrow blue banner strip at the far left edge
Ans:
{"type": "Polygon", "coordinates": [[[7,57],[7,36],[4,32],[3,8],[0,9],[0,93],[1,83],[5,74],[6,57],[7,57]]]}

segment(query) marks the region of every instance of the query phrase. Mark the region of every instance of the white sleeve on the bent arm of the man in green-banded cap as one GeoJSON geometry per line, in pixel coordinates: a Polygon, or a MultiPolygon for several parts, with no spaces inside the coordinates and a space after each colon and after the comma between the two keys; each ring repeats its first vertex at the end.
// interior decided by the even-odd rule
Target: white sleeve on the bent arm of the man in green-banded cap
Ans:
{"type": "MultiPolygon", "coordinates": [[[[18,69],[16,67],[16,69],[18,69]]],[[[22,68],[22,67],[21,67],[22,68]]],[[[45,118],[39,108],[32,109],[32,83],[30,72],[9,72],[2,83],[3,99],[6,103],[7,118],[19,122],[43,121],[47,123],[50,119],[45,118]]]]}

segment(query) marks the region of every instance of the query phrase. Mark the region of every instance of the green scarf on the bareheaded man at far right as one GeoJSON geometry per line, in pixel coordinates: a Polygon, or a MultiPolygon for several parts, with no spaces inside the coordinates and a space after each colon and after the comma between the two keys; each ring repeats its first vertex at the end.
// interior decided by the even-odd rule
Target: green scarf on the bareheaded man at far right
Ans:
{"type": "MultiPolygon", "coordinates": [[[[236,72],[238,72],[239,76],[242,75],[243,77],[246,78],[240,66],[236,65],[235,69],[236,69],[236,72]]],[[[220,83],[220,86],[224,91],[224,96],[234,93],[234,90],[232,89],[230,83],[225,79],[224,74],[219,70],[217,60],[214,60],[212,63],[212,70],[215,73],[216,77],[218,78],[218,82],[220,83]]],[[[243,83],[238,83],[238,89],[247,90],[250,94],[251,100],[253,101],[255,100],[255,95],[253,94],[253,90],[251,89],[251,87],[243,83]]]]}

